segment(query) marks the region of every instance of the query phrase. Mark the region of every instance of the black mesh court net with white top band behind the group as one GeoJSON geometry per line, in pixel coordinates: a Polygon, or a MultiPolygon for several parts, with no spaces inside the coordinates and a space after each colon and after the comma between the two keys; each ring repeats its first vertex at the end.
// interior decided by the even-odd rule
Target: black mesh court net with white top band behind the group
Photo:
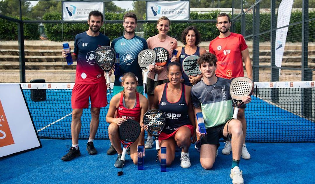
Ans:
{"type": "MultiPolygon", "coordinates": [[[[71,139],[71,93],[74,83],[20,83],[40,138],[71,139]]],[[[315,142],[314,81],[255,82],[247,104],[246,142],[315,142]]],[[[112,93],[107,91],[108,102],[112,93]]],[[[101,108],[95,139],[108,139],[101,108]]],[[[90,108],[83,110],[80,139],[89,138],[90,108]]]]}

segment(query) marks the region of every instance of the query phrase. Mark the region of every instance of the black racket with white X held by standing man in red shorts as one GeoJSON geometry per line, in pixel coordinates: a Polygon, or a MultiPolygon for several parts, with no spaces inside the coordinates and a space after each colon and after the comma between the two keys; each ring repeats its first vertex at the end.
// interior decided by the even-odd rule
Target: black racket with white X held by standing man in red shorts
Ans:
{"type": "Polygon", "coordinates": [[[102,70],[106,72],[106,83],[111,83],[108,72],[115,63],[116,54],[114,49],[109,46],[101,46],[95,50],[94,59],[102,70]]]}

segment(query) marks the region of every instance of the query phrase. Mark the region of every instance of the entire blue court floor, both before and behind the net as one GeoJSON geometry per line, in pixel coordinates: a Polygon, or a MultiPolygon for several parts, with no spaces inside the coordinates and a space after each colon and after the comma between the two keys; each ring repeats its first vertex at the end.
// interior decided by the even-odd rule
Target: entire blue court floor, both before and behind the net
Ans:
{"type": "MultiPolygon", "coordinates": [[[[232,154],[221,153],[223,142],[210,170],[201,167],[199,153],[191,145],[190,168],[180,167],[180,152],[176,152],[171,167],[160,172],[153,146],[146,150],[144,170],[138,170],[126,155],[123,175],[117,176],[121,170],[114,167],[117,155],[106,154],[110,145],[105,121],[108,106],[101,110],[94,141],[98,154],[89,155],[86,151],[90,112],[85,109],[79,140],[81,156],[62,161],[60,158],[68,150],[66,145],[71,145],[71,90],[47,90],[47,99],[41,102],[32,101],[29,91],[23,90],[43,147],[0,159],[0,183],[232,183],[232,154]]],[[[240,161],[244,183],[315,183],[313,117],[303,117],[260,97],[252,98],[245,111],[246,145],[251,159],[240,161]]]]}

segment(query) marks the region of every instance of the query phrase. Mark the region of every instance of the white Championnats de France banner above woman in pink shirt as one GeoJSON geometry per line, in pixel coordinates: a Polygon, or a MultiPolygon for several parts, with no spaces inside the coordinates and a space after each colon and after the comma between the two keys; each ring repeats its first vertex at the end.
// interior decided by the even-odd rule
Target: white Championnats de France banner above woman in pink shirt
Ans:
{"type": "Polygon", "coordinates": [[[158,20],[166,16],[169,20],[188,20],[189,1],[147,1],[147,20],[158,20]]]}

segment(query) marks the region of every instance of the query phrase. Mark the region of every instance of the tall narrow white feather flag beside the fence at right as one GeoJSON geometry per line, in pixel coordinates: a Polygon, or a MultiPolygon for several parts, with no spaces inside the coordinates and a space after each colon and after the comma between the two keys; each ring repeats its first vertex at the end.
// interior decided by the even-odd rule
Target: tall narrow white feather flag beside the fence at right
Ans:
{"type": "MultiPolygon", "coordinates": [[[[293,0],[282,0],[278,8],[278,21],[277,28],[288,26],[290,23],[291,11],[293,0]]],[[[287,39],[289,27],[277,29],[276,31],[276,50],[275,50],[275,64],[277,67],[281,67],[284,45],[287,39]]],[[[280,69],[279,69],[280,75],[280,69]]]]}

